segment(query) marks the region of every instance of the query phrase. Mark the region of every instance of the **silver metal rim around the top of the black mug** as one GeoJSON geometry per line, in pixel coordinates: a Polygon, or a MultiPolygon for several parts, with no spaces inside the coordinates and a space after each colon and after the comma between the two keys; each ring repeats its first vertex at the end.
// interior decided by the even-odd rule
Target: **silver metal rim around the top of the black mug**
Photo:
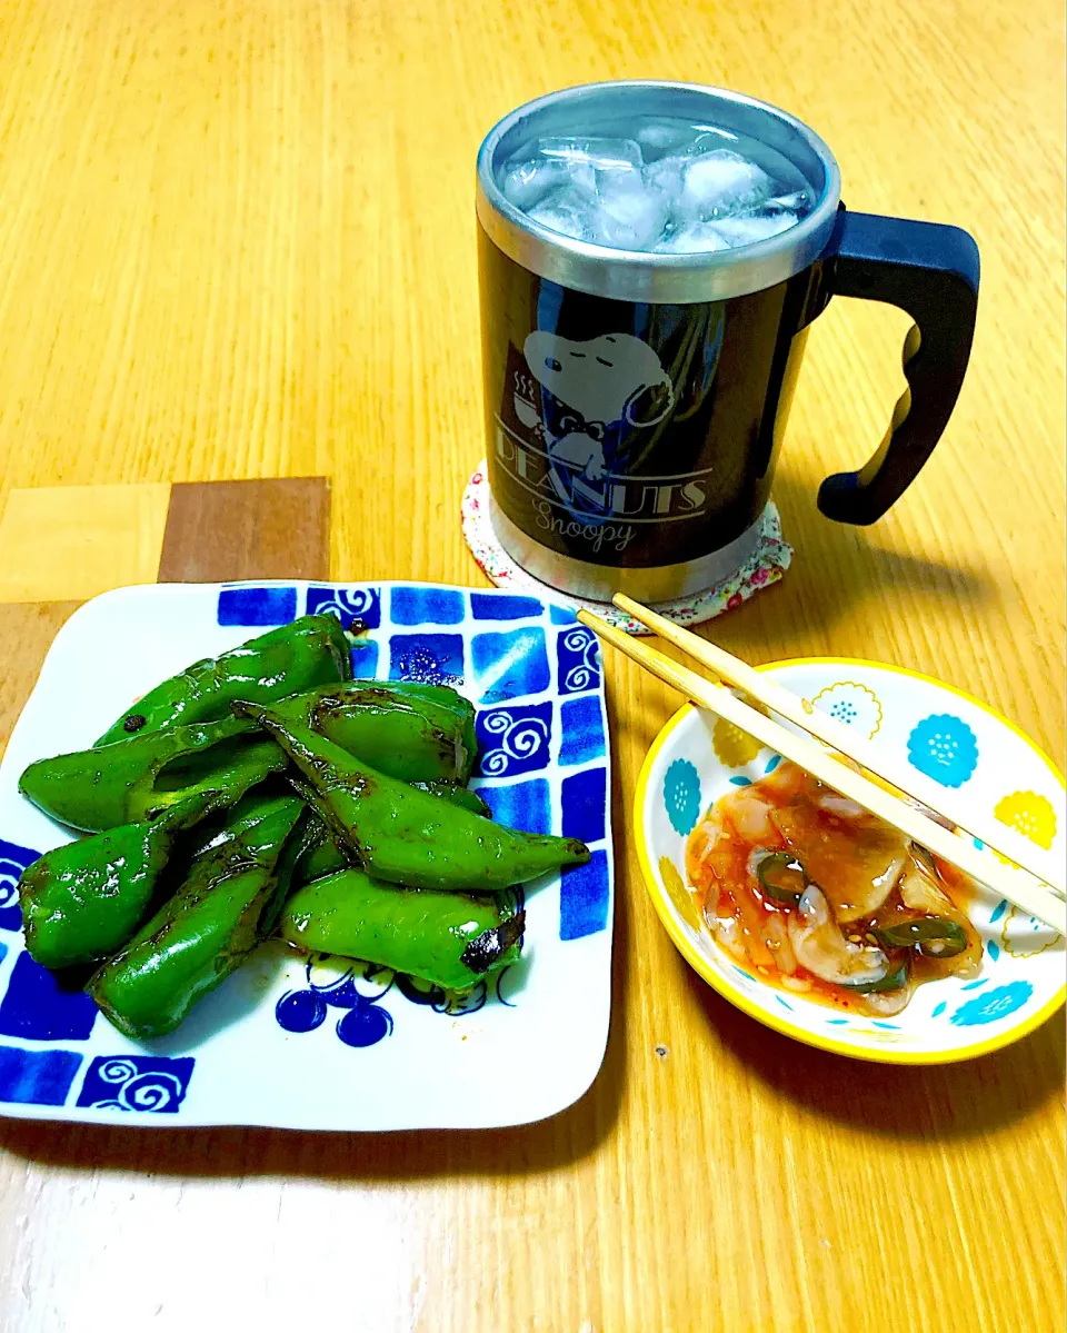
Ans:
{"type": "MultiPolygon", "coordinates": [[[[669,115],[669,112],[663,112],[669,115]]],[[[753,137],[761,139],[755,131],[753,137]]],[[[746,93],[707,84],[658,79],[578,84],[524,103],[489,131],[478,149],[477,216],[489,240],[522,268],[561,287],[621,301],[698,304],[747,296],[803,272],[826,249],[841,203],[841,168],[830,147],[789,112],[746,93]],[[553,232],[514,207],[497,184],[497,151],[506,136],[538,115],[566,103],[595,104],[619,89],[639,89],[665,99],[709,99],[726,105],[734,120],[759,117],[774,123],[778,136],[822,167],[815,207],[795,227],[755,245],[703,255],[637,255],[553,232]]]]}

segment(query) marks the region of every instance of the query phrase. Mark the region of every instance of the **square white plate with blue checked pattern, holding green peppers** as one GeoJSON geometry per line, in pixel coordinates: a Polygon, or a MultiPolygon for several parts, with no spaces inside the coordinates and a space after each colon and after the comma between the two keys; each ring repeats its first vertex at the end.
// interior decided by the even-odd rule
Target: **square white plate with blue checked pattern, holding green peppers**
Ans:
{"type": "Polygon", "coordinates": [[[535,597],[429,584],[123,588],[56,636],[0,765],[0,1114],[137,1125],[417,1129],[563,1110],[607,1040],[613,858],[594,636],[535,597]],[[17,792],[32,760],[93,742],[157,681],[298,615],[368,627],[356,676],[453,684],[477,706],[474,784],[501,822],[582,837],[526,886],[520,964],[464,1001],[392,972],[264,945],[181,1028],[123,1037],[23,948],[16,882],[69,840],[17,792]]]}

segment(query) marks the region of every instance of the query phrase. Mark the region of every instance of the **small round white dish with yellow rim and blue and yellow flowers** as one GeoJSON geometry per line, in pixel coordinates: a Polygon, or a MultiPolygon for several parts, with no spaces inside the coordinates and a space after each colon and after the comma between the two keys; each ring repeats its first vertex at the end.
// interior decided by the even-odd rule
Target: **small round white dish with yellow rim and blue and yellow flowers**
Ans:
{"type": "MultiPolygon", "coordinates": [[[[986,704],[879,663],[818,657],[763,669],[1063,864],[1063,774],[986,704]]],[[[731,785],[755,781],[777,761],[735,726],[686,705],[657,736],[637,784],[634,824],[645,884],[678,950],[721,996],[798,1041],[887,1064],[970,1060],[1018,1041],[1060,1008],[1067,997],[1063,937],[984,890],[968,909],[984,942],[980,976],[920,985],[891,1021],[846,1017],[738,966],[699,920],[685,878],[686,838],[731,785]]],[[[986,854],[994,856],[988,849],[986,854]]]]}

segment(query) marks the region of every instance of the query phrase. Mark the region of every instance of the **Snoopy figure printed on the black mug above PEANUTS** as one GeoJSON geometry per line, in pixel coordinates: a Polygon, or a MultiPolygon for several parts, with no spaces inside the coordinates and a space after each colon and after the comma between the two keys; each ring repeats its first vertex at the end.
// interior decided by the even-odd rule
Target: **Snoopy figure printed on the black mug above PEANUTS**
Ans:
{"type": "Polygon", "coordinates": [[[575,343],[538,329],[522,351],[533,377],[570,409],[554,429],[545,423],[549,456],[589,481],[614,471],[615,460],[605,455],[613,427],[617,436],[621,427],[655,425],[674,405],[659,357],[630,333],[575,343]]]}

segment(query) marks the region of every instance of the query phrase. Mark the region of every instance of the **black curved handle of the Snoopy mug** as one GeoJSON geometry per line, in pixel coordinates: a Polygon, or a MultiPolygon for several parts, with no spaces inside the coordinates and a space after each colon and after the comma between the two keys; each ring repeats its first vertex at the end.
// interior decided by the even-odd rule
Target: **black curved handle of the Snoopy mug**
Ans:
{"type": "Polygon", "coordinates": [[[823,257],[826,299],[887,301],[915,320],[904,340],[908,388],[885,440],[859,472],[819,487],[827,519],[875,523],[915,480],[959,397],[978,312],[978,247],[958,227],[842,207],[823,257]]]}

